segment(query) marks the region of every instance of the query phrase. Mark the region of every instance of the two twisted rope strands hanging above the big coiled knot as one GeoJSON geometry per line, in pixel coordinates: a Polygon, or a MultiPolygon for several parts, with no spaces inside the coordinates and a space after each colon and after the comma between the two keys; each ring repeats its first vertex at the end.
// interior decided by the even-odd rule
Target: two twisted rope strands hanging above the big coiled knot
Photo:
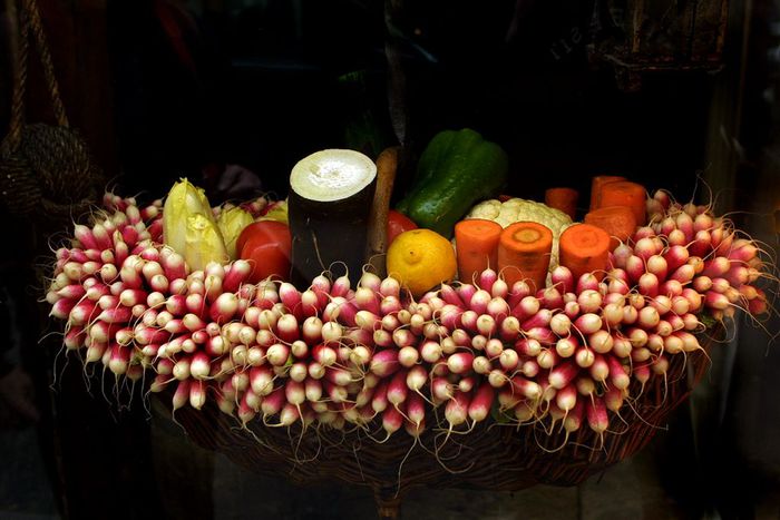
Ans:
{"type": "MultiPolygon", "coordinates": [[[[8,0],[8,12],[16,13],[17,0],[8,0]]],[[[11,20],[14,17],[10,17],[11,20]]],[[[51,106],[55,112],[57,124],[61,127],[68,127],[68,116],[65,112],[65,105],[59,94],[59,85],[55,75],[55,67],[49,52],[49,45],[43,32],[43,26],[38,10],[36,0],[21,0],[19,6],[18,20],[21,31],[10,31],[13,69],[13,94],[11,100],[11,119],[8,133],[8,139],[12,149],[16,149],[21,141],[21,129],[25,125],[25,96],[27,92],[27,71],[29,58],[29,40],[32,36],[40,57],[40,63],[43,69],[43,79],[46,81],[51,106]],[[16,37],[16,41],[14,40],[16,37]]]]}

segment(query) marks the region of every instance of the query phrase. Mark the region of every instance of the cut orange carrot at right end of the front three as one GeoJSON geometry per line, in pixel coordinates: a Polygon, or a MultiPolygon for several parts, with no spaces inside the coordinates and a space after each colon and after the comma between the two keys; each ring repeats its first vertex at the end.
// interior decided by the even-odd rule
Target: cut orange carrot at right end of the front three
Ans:
{"type": "Polygon", "coordinates": [[[575,281],[585,273],[602,279],[610,254],[610,235],[604,229],[575,224],[560,234],[558,244],[560,265],[568,267],[575,281]]]}

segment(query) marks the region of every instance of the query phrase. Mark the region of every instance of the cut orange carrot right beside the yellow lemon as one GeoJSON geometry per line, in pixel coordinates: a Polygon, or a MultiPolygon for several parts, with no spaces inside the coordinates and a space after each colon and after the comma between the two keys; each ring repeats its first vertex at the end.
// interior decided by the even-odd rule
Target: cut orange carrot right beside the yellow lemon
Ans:
{"type": "Polygon", "coordinates": [[[467,218],[455,225],[458,278],[474,283],[475,275],[498,265],[498,238],[504,228],[495,220],[467,218]]]}

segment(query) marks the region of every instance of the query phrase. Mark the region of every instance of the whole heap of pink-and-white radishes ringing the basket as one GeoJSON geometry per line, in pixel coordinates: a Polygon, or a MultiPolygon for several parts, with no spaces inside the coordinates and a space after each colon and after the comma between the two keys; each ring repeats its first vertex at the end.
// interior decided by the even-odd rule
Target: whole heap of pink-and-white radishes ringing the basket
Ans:
{"type": "Polygon", "coordinates": [[[559,266],[532,294],[488,269],[419,301],[368,272],[303,291],[245,283],[245,261],[191,272],[160,244],[159,202],[107,194],[104,205],[56,253],[46,297],[66,350],[169,389],[174,410],[213,400],[243,424],[360,428],[380,441],[490,420],[601,435],[672,356],[701,350],[704,316],[768,308],[757,245],[664,192],[605,273],[574,279],[559,266]]]}

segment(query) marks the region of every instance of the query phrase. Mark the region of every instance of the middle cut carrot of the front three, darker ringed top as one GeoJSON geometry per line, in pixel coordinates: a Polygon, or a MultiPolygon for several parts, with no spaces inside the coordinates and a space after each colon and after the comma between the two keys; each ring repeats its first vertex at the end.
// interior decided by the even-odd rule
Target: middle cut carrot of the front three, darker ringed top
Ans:
{"type": "Polygon", "coordinates": [[[507,285],[526,279],[533,291],[545,287],[553,232],[535,222],[509,224],[498,242],[498,269],[507,285]]]}

